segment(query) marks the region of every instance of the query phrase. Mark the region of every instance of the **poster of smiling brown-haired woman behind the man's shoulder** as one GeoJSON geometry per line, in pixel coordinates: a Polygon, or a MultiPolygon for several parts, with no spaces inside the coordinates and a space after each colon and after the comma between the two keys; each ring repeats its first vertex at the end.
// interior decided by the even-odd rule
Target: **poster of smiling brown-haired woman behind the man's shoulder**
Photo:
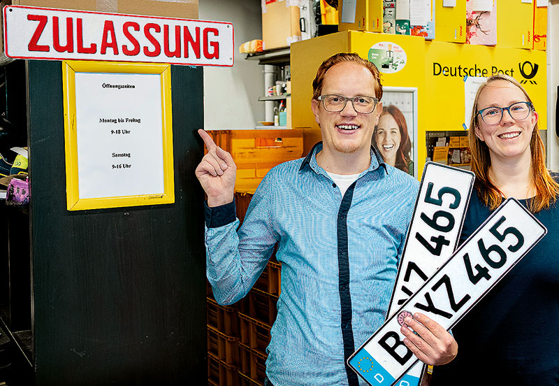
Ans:
{"type": "Polygon", "coordinates": [[[414,87],[384,87],[382,113],[372,134],[372,144],[384,162],[416,177],[417,136],[416,101],[414,87]]]}

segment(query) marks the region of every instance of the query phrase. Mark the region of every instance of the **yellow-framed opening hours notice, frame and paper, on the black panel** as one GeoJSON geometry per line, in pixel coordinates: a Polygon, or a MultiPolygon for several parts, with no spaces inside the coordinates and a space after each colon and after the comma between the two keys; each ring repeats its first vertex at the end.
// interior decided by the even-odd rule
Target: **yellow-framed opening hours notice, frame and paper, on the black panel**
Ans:
{"type": "Polygon", "coordinates": [[[169,64],[62,62],[68,210],[175,202],[169,64]]]}

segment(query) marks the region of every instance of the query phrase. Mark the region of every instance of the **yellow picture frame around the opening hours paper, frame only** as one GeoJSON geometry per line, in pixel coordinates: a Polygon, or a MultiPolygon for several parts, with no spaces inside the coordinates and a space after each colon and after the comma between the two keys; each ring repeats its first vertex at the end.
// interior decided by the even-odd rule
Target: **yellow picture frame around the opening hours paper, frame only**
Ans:
{"type": "MultiPolygon", "coordinates": [[[[119,208],[175,202],[173,169],[173,120],[171,114],[170,64],[63,61],[64,141],[66,152],[66,207],[68,210],[119,208]],[[80,198],[78,170],[78,127],[76,114],[76,73],[159,74],[161,80],[161,127],[163,143],[163,192],[126,196],[80,198]]],[[[113,153],[114,157],[114,153],[113,153]]],[[[115,167],[114,165],[112,166],[115,167]]],[[[150,176],[143,176],[150,178],[150,176]]]]}

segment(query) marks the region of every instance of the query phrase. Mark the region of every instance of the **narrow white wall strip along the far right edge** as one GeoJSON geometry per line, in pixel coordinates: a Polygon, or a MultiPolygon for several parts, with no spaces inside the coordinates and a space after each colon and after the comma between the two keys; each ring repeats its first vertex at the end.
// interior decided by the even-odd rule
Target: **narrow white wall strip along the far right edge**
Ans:
{"type": "Polygon", "coordinates": [[[556,101],[559,86],[559,0],[549,2],[547,29],[547,74],[548,74],[548,130],[547,166],[559,170],[559,138],[556,134],[556,101]]]}

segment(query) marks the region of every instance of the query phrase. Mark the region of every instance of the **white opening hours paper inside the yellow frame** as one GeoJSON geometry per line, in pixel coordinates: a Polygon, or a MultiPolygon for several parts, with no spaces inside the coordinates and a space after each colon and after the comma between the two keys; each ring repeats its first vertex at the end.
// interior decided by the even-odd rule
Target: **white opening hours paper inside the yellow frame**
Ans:
{"type": "Polygon", "coordinates": [[[164,194],[159,74],[75,73],[80,199],[164,194]]]}

